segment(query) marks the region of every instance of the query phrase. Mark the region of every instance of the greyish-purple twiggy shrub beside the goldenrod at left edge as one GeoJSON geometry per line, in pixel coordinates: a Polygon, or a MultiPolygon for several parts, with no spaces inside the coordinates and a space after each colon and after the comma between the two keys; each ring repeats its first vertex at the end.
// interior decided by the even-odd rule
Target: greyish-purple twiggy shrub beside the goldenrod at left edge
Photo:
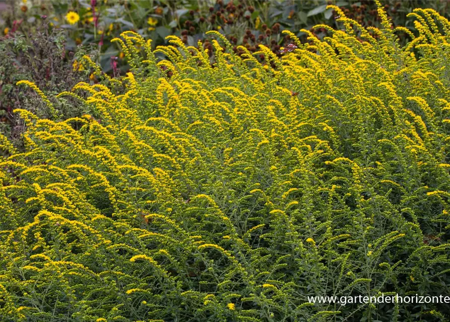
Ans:
{"type": "Polygon", "coordinates": [[[32,34],[14,34],[0,42],[0,128],[10,137],[18,139],[24,126],[13,115],[15,108],[33,112],[41,118],[51,115],[46,104],[29,88],[16,83],[28,79],[45,92],[64,119],[81,116],[87,110],[76,100],[54,100],[63,90],[71,90],[81,81],[94,82],[92,70],[79,63],[84,54],[96,59],[96,48],[80,46],[77,52],[66,50],[66,35],[61,29],[49,29],[47,24],[32,34]],[[28,38],[28,39],[27,39],[28,38]]]}

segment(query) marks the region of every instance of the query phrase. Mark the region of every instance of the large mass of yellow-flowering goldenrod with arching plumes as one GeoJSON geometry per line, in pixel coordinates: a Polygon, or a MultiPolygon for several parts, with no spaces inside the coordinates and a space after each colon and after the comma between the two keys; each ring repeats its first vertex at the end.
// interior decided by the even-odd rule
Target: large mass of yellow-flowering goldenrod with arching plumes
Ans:
{"type": "Polygon", "coordinates": [[[450,294],[450,23],[416,10],[403,46],[381,7],[380,30],[332,9],[345,30],[286,32],[297,49],[254,53],[271,64],[217,32],[213,65],[203,46],[169,36],[152,51],[126,32],[132,72],[94,66],[107,86],[59,96],[89,115],[16,110],[25,149],[1,137],[2,320],[448,318],[307,302],[450,294]]]}

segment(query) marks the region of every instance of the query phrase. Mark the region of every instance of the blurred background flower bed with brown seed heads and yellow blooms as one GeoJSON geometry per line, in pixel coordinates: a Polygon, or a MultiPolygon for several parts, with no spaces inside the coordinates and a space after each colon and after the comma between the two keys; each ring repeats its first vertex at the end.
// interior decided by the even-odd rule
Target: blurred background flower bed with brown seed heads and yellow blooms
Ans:
{"type": "MultiPolygon", "coordinates": [[[[264,44],[275,53],[285,45],[282,30],[290,30],[298,37],[301,28],[310,30],[317,24],[335,28],[336,12],[327,5],[336,5],[347,17],[362,26],[379,27],[381,17],[371,0],[12,0],[10,10],[0,17],[4,34],[30,34],[41,21],[54,28],[62,28],[68,35],[68,47],[74,50],[79,44],[95,43],[101,48],[101,66],[110,69],[111,56],[119,57],[126,65],[126,57],[110,40],[121,32],[132,30],[153,40],[153,46],[167,44],[168,35],[180,36],[189,45],[196,46],[205,39],[205,32],[218,30],[233,45],[243,45],[250,51],[264,44]]],[[[384,9],[394,26],[404,26],[415,31],[414,24],[406,18],[415,8],[431,8],[446,18],[448,1],[442,0],[385,0],[384,9]]],[[[310,30],[318,37],[325,29],[310,30]]],[[[406,34],[401,35],[406,38],[406,34]]],[[[288,39],[287,39],[288,40],[288,39]]],[[[204,46],[212,51],[211,44],[204,46]]]]}

